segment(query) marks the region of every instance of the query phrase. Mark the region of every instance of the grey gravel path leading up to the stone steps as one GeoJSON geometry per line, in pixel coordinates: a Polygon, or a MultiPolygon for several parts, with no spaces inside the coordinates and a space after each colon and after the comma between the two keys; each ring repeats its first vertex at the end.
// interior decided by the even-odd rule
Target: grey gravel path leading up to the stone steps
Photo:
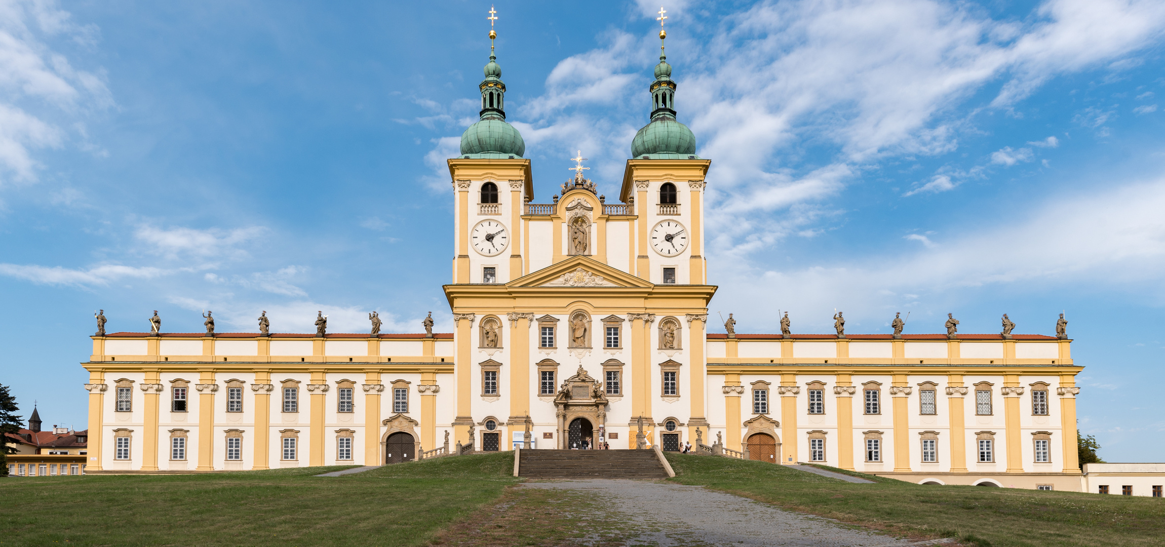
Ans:
{"type": "Polygon", "coordinates": [[[629,525],[627,545],[882,547],[941,545],[898,540],[820,517],[706,490],[649,481],[552,481],[521,488],[585,493],[629,525]]]}

